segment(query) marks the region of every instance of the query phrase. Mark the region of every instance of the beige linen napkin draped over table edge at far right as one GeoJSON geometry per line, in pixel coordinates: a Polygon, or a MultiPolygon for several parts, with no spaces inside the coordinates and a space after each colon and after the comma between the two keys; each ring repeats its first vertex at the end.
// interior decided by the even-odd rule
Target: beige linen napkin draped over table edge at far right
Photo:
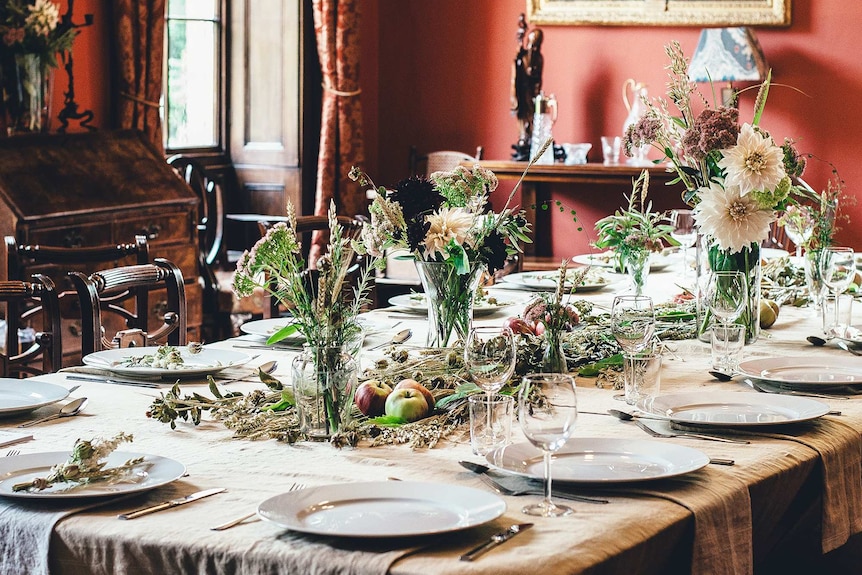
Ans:
{"type": "MultiPolygon", "coordinates": [[[[674,427],[703,431],[703,426],[674,423],[674,427]]],[[[787,426],[785,426],[787,427],[787,426]]],[[[828,553],[862,531],[862,436],[852,427],[828,418],[792,426],[785,433],[775,427],[720,428],[709,432],[770,437],[795,441],[820,455],[823,465],[822,549],[828,553]]]]}

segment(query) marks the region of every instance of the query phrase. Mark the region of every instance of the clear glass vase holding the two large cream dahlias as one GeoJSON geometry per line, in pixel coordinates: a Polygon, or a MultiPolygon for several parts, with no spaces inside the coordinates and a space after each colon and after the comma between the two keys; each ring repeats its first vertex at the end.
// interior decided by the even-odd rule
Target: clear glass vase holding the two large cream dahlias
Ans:
{"type": "Polygon", "coordinates": [[[701,301],[702,292],[709,281],[712,271],[740,271],[745,276],[746,298],[745,307],[739,318],[734,322],[745,326],[745,343],[751,344],[760,337],[760,246],[752,243],[738,252],[719,249],[716,245],[706,245],[698,250],[698,326],[697,336],[701,341],[711,340],[712,325],[715,323],[708,306],[701,301]]]}

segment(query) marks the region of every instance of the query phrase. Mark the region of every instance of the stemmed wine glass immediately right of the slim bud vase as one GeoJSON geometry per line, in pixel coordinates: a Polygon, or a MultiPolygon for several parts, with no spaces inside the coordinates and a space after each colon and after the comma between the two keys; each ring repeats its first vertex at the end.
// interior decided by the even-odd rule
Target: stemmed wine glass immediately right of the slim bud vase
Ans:
{"type": "Polygon", "coordinates": [[[625,355],[626,403],[634,405],[636,389],[635,356],[650,346],[655,333],[655,310],[652,298],[647,296],[620,295],[614,298],[611,306],[611,333],[625,355]]]}

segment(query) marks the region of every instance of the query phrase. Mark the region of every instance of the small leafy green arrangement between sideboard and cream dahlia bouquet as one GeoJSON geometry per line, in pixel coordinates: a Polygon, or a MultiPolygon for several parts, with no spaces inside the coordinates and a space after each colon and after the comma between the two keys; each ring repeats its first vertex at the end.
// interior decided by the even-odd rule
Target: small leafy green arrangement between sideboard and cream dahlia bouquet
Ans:
{"type": "Polygon", "coordinates": [[[664,212],[652,211],[652,202],[647,202],[649,172],[644,170],[634,180],[632,193],[627,196],[628,208],[617,210],[613,215],[596,222],[597,248],[612,249],[617,260],[617,269],[623,271],[632,260],[650,253],[660,253],[664,242],[678,245],[671,237],[673,227],[664,212]]]}

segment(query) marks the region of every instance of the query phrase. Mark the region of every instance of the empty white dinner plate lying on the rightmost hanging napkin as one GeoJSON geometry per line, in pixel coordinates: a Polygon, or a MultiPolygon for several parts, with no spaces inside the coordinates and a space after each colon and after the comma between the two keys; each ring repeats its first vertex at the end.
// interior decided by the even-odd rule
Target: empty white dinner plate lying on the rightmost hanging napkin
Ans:
{"type": "Polygon", "coordinates": [[[659,395],[639,407],[677,423],[720,427],[798,423],[829,412],[827,404],[807,397],[732,391],[659,395]]]}

